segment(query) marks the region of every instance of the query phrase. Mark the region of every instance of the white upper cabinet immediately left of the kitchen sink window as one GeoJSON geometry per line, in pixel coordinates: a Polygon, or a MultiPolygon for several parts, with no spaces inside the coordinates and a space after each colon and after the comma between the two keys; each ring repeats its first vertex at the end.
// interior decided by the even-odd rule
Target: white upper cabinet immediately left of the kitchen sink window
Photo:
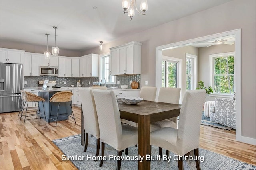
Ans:
{"type": "Polygon", "coordinates": [[[98,77],[99,76],[99,55],[89,54],[82,56],[79,63],[80,77],[98,77]]]}

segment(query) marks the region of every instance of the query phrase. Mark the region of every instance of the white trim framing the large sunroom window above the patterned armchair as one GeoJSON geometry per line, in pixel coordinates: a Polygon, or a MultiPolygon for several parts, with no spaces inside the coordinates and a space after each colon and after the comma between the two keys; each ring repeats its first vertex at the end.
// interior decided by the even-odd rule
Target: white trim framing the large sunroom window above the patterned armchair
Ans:
{"type": "MultiPolygon", "coordinates": [[[[235,72],[236,72],[236,57],[235,57],[235,51],[232,52],[227,52],[227,53],[218,53],[218,54],[210,54],[209,55],[209,86],[212,86],[214,88],[214,68],[213,68],[213,63],[214,63],[214,58],[215,57],[226,57],[226,56],[234,56],[234,90],[236,89],[236,81],[235,81],[235,72]]],[[[226,94],[226,93],[211,93],[209,96],[212,97],[227,97],[230,98],[234,94],[226,94]]]]}

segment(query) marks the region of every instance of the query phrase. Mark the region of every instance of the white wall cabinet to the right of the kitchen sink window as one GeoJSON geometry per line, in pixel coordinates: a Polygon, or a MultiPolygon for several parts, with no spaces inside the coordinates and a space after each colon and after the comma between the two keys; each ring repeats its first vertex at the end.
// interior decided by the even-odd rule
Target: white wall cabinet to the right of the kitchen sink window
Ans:
{"type": "Polygon", "coordinates": [[[118,47],[110,48],[111,75],[140,74],[141,45],[132,41],[118,47]]]}

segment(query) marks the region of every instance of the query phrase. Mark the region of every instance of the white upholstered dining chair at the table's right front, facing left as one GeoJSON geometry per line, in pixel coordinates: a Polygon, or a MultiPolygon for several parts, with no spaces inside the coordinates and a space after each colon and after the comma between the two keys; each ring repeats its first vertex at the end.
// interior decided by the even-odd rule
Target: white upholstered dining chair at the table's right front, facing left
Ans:
{"type": "MultiPolygon", "coordinates": [[[[164,127],[152,131],[150,134],[151,145],[170,150],[183,156],[194,150],[199,156],[199,135],[206,90],[190,90],[184,95],[180,109],[178,129],[164,127]]],[[[183,161],[178,160],[179,170],[183,170],[183,161]]],[[[200,169],[199,160],[196,160],[196,169],[200,169]]]]}

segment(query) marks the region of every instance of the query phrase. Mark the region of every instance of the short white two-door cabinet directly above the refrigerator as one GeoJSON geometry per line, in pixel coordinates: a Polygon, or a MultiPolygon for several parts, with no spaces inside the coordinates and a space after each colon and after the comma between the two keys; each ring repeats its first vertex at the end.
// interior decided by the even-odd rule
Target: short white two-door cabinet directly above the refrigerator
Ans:
{"type": "Polygon", "coordinates": [[[16,50],[16,49],[0,49],[0,62],[1,63],[23,63],[24,50],[16,50]]]}

